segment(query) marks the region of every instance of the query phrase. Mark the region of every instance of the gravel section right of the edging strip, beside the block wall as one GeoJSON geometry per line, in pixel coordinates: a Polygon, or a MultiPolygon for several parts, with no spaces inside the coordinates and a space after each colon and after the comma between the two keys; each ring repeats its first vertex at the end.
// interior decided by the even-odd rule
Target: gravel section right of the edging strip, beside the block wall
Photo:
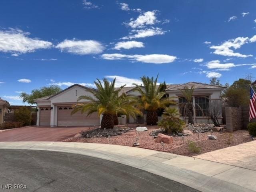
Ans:
{"type": "MultiPolygon", "coordinates": [[[[218,138],[217,140],[206,139],[206,140],[198,141],[198,142],[196,142],[196,146],[201,148],[201,151],[199,154],[202,154],[202,153],[215,151],[218,149],[222,149],[222,148],[226,148],[226,147],[230,147],[230,146],[234,146],[234,145],[238,145],[238,144],[242,144],[242,143],[251,141],[250,138],[243,136],[244,133],[248,134],[248,131],[238,130],[238,131],[235,131],[234,133],[232,133],[231,135],[233,135],[233,139],[231,139],[231,143],[228,144],[228,140],[230,138],[230,136],[229,136],[230,133],[220,134],[220,133],[214,132],[213,135],[217,136],[217,138],[218,138]]],[[[169,150],[168,152],[178,154],[178,155],[184,155],[184,156],[198,155],[198,154],[189,152],[188,144],[185,144],[178,148],[169,150]]]]}

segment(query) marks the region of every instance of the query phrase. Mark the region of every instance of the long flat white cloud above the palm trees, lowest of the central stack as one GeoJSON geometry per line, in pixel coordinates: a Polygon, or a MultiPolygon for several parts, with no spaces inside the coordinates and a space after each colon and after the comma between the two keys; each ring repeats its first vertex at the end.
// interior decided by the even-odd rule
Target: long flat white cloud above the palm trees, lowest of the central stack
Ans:
{"type": "Polygon", "coordinates": [[[176,56],[164,55],[164,54],[148,54],[148,55],[125,55],[125,54],[102,54],[103,59],[107,60],[121,60],[121,59],[129,59],[143,63],[154,63],[154,64],[162,64],[162,63],[171,63],[177,58],[176,56]]]}

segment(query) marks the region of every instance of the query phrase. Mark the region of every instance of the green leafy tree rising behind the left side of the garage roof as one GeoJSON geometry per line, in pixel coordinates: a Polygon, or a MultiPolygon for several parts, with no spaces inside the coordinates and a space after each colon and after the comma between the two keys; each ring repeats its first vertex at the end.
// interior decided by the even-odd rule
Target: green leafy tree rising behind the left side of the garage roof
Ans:
{"type": "Polygon", "coordinates": [[[28,102],[29,104],[36,104],[34,102],[34,99],[40,98],[40,97],[45,97],[45,96],[50,96],[54,95],[58,92],[60,92],[62,89],[59,86],[51,85],[50,87],[42,87],[40,89],[33,89],[31,91],[31,94],[27,94],[25,92],[22,92],[20,94],[20,97],[22,98],[22,101],[28,102]]]}

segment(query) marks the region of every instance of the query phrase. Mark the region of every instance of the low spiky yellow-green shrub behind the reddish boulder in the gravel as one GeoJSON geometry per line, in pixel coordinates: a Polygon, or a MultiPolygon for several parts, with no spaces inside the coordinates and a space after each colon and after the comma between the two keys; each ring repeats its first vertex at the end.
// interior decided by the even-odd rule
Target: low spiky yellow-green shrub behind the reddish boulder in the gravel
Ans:
{"type": "Polygon", "coordinates": [[[164,128],[168,134],[182,132],[185,123],[179,116],[180,114],[176,108],[168,107],[164,110],[158,126],[164,128]]]}

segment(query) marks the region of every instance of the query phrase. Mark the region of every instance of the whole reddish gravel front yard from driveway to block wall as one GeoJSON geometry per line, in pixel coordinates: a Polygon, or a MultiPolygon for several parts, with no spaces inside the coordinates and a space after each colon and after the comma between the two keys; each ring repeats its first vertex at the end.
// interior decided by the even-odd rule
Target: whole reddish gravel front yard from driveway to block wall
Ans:
{"type": "Polygon", "coordinates": [[[145,132],[136,132],[135,130],[130,130],[122,135],[112,136],[110,138],[100,137],[100,138],[68,138],[64,141],[68,142],[88,142],[88,143],[103,143],[103,144],[116,144],[116,145],[125,145],[133,146],[135,142],[140,143],[141,148],[148,148],[153,150],[161,150],[175,154],[181,154],[186,156],[194,156],[196,154],[190,154],[188,152],[188,142],[195,141],[198,146],[202,148],[201,153],[225,148],[232,145],[237,145],[243,142],[250,140],[244,140],[242,134],[248,133],[245,130],[239,130],[234,132],[234,139],[232,144],[226,144],[226,136],[220,132],[213,132],[213,135],[217,136],[218,140],[208,140],[209,132],[192,134],[190,136],[173,137],[172,144],[160,144],[156,143],[153,136],[150,136],[150,132],[157,130],[157,126],[147,126],[148,131],[145,132]],[[199,138],[198,138],[199,136],[199,138]]]}

